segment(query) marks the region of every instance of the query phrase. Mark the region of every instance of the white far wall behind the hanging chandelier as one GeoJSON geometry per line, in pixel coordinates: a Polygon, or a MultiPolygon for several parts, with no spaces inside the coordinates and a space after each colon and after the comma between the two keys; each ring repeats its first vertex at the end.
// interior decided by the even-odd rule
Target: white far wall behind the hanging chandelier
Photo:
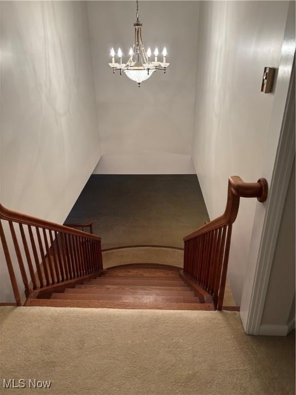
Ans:
{"type": "Polygon", "coordinates": [[[95,173],[194,173],[191,162],[198,2],[140,2],[143,41],[168,49],[167,74],[138,88],[108,66],[110,48],[125,58],[136,2],[88,2],[102,159],[95,173]],[[186,63],[184,63],[186,61],[186,63]]]}

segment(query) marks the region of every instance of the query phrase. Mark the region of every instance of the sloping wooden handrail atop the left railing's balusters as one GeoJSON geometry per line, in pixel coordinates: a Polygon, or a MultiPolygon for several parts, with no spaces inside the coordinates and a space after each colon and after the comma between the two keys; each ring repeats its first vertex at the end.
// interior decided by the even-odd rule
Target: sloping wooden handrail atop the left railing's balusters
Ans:
{"type": "Polygon", "coordinates": [[[45,229],[49,228],[51,230],[64,232],[73,236],[88,237],[89,239],[101,241],[101,238],[99,236],[90,234],[88,232],[83,232],[82,230],[70,228],[65,225],[60,225],[54,222],[42,220],[41,218],[38,217],[28,216],[27,214],[23,214],[21,212],[9,210],[8,208],[4,207],[2,204],[0,204],[0,219],[6,221],[18,222],[25,225],[37,226],[39,228],[45,228],[45,229]]]}

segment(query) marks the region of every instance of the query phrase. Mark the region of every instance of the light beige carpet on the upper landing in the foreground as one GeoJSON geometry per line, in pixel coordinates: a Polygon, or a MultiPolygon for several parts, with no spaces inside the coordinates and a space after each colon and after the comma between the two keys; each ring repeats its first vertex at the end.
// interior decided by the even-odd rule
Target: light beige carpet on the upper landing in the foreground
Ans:
{"type": "Polygon", "coordinates": [[[0,308],[3,379],[51,395],[294,394],[294,339],[253,337],[233,312],[0,308]]]}

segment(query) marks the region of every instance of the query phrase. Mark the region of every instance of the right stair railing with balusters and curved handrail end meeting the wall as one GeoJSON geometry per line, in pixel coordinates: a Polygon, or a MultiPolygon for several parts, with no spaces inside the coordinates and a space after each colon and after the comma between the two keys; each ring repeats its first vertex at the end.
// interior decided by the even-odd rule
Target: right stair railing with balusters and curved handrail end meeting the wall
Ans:
{"type": "Polygon", "coordinates": [[[232,224],[237,217],[239,198],[257,197],[259,202],[265,202],[267,191],[265,178],[257,183],[244,183],[241,177],[229,177],[224,214],[183,239],[183,271],[213,296],[217,310],[223,306],[232,224]]]}

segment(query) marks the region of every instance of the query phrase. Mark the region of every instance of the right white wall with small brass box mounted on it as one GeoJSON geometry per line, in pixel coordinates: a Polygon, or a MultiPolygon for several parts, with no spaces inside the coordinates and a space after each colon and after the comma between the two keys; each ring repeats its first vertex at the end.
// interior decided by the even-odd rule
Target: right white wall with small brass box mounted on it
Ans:
{"type": "MultiPolygon", "coordinates": [[[[261,176],[274,95],[260,92],[265,66],[278,67],[288,2],[202,2],[193,161],[213,219],[223,213],[230,175],[261,176]]],[[[276,86],[275,86],[276,89],[276,86]]],[[[255,201],[241,200],[228,278],[241,301],[255,201]]]]}

